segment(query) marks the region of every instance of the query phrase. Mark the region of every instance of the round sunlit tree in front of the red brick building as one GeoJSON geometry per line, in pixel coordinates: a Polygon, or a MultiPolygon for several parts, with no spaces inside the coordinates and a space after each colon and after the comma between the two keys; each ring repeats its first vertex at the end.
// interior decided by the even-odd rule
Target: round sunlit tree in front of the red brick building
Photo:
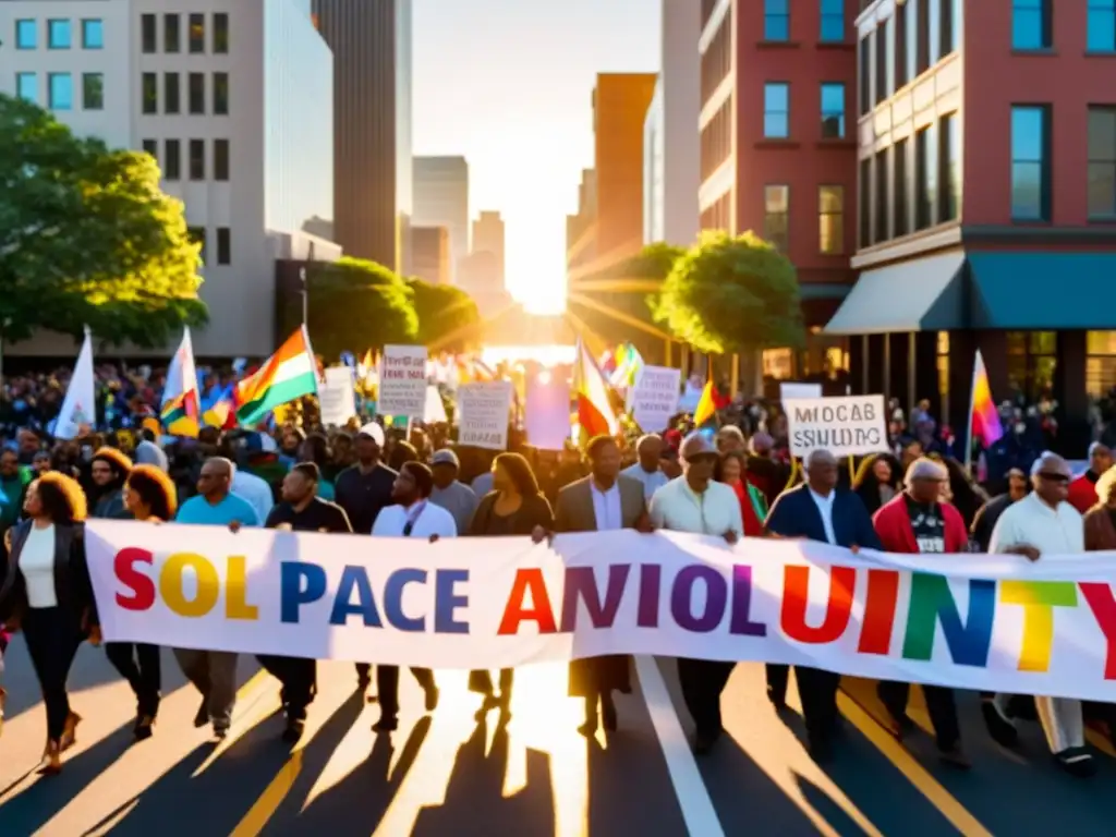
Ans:
{"type": "Polygon", "coordinates": [[[752,232],[705,233],[663,282],[655,319],[715,354],[800,346],[806,336],[795,266],[752,232]]]}

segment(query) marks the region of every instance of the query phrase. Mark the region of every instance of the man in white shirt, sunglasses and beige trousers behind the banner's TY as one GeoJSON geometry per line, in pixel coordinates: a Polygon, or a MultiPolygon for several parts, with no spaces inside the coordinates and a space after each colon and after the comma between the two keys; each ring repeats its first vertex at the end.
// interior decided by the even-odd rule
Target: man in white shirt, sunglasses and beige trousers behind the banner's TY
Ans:
{"type": "MultiPolygon", "coordinates": [[[[1056,453],[1047,451],[1035,460],[1031,465],[1035,490],[1000,516],[988,551],[1021,555],[1031,561],[1040,560],[1043,555],[1084,552],[1081,513],[1066,501],[1071,477],[1066,460],[1056,453]]],[[[1085,749],[1081,702],[1039,696],[1035,705],[1050,752],[1062,769],[1072,776],[1091,776],[1096,766],[1085,749]]],[[[1018,733],[1008,706],[1009,695],[998,694],[983,701],[982,711],[992,738],[1010,747],[1016,743],[1018,733]]]]}

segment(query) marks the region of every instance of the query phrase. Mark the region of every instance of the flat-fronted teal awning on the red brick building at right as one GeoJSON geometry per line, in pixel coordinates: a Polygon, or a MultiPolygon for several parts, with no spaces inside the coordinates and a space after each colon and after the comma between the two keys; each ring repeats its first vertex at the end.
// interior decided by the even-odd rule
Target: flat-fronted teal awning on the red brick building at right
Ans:
{"type": "Polygon", "coordinates": [[[1116,253],[970,250],[968,257],[971,328],[1116,327],[1116,253]]]}

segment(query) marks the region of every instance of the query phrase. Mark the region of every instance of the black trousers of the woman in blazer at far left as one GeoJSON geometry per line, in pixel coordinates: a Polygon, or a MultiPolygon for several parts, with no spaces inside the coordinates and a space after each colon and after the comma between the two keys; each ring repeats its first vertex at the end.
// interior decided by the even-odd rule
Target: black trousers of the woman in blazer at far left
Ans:
{"type": "Polygon", "coordinates": [[[47,706],[47,738],[58,741],[70,713],[66,680],[85,636],[77,616],[61,607],[28,608],[22,627],[47,706]]]}

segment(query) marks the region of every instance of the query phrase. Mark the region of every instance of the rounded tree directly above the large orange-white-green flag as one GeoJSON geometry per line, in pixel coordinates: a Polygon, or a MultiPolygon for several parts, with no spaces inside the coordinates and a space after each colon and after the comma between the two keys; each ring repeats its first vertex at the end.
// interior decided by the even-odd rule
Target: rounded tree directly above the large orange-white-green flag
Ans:
{"type": "Polygon", "coordinates": [[[344,258],[309,266],[310,341],[324,357],[387,343],[414,343],[419,317],[411,288],[393,270],[344,258]]]}

